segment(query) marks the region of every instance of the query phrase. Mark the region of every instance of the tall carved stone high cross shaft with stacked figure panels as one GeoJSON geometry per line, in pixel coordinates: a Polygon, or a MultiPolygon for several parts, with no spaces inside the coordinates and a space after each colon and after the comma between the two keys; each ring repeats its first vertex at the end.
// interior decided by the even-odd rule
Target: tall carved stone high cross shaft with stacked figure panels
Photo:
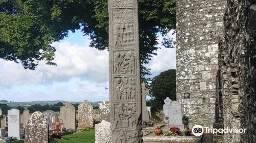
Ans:
{"type": "Polygon", "coordinates": [[[137,0],[108,0],[112,141],[141,142],[137,0]]]}

